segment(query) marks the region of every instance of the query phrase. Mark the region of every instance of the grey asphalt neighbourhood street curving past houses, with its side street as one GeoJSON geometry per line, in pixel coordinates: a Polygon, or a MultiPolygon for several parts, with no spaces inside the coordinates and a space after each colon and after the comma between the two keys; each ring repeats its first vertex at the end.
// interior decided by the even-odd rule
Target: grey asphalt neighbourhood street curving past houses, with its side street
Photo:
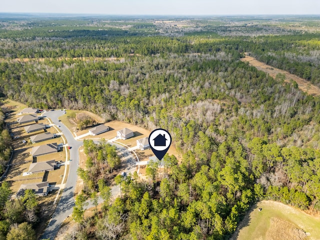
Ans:
{"type": "MultiPolygon", "coordinates": [[[[63,135],[68,142],[68,145],[71,146],[70,151],[70,165],[69,165],[69,173],[66,180],[65,188],[62,192],[62,196],[60,201],[58,202],[58,205],[55,208],[55,211],[52,215],[52,218],[47,225],[46,229],[44,230],[42,237],[44,239],[49,238],[50,240],[53,240],[56,233],[58,232],[62,221],[69,216],[72,213],[73,206],[74,206],[74,189],[76,184],[76,169],[78,167],[79,163],[79,147],[83,144],[82,141],[78,141],[74,139],[74,136],[70,132],[70,130],[62,123],[58,121],[58,117],[63,114],[63,111],[56,110],[56,111],[48,111],[43,114],[43,116],[46,116],[51,119],[52,122],[54,122],[56,125],[60,125],[60,130],[63,132],[63,135]]],[[[97,141],[95,141],[97,142],[97,141]]],[[[110,142],[108,142],[110,143],[110,142]]],[[[115,145],[120,153],[121,160],[124,160],[125,164],[125,170],[127,173],[131,172],[133,173],[135,171],[135,159],[125,147],[116,144],[116,143],[110,143],[112,145],[115,145]]],[[[111,188],[112,196],[119,195],[119,186],[113,186],[111,188]]],[[[99,199],[99,202],[102,200],[99,199]]],[[[88,207],[91,207],[92,203],[89,202],[88,207]]]]}

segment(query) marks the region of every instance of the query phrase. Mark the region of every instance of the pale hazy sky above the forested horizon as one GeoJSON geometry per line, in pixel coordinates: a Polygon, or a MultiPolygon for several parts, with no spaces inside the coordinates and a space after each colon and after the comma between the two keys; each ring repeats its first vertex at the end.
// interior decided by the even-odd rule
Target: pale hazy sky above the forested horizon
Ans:
{"type": "Polygon", "coordinates": [[[320,14],[320,0],[1,0],[0,12],[106,15],[320,14]]]}

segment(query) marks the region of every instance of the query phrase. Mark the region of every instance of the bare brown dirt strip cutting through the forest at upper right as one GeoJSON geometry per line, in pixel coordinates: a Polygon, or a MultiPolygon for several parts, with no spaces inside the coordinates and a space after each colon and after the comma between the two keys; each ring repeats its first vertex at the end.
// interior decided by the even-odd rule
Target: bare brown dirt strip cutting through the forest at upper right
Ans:
{"type": "Polygon", "coordinates": [[[313,95],[313,96],[320,95],[320,88],[319,87],[312,85],[309,81],[307,81],[303,78],[300,78],[294,74],[291,74],[287,71],[284,71],[284,70],[272,67],[270,65],[267,65],[261,61],[256,60],[252,56],[245,55],[244,58],[241,58],[241,61],[248,61],[250,65],[255,66],[258,70],[261,70],[261,71],[268,73],[273,78],[278,73],[285,74],[285,79],[284,79],[285,82],[290,83],[290,80],[294,80],[298,84],[298,87],[300,90],[302,90],[310,95],[313,95]]]}

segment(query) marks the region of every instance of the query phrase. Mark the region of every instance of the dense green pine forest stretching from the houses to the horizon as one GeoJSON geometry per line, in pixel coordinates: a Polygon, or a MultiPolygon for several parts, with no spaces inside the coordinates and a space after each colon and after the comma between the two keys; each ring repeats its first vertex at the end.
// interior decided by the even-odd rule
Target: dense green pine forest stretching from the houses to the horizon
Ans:
{"type": "Polygon", "coordinates": [[[110,202],[106,178],[119,159],[86,142],[79,228],[66,239],[226,239],[261,199],[320,210],[319,98],[240,61],[249,52],[319,85],[319,32],[258,20],[2,21],[7,97],[165,128],[182,153],[164,157],[161,175],[150,162],[148,181],[117,177],[122,194],[110,202]],[[98,191],[102,213],[84,219],[85,195],[98,191]]]}

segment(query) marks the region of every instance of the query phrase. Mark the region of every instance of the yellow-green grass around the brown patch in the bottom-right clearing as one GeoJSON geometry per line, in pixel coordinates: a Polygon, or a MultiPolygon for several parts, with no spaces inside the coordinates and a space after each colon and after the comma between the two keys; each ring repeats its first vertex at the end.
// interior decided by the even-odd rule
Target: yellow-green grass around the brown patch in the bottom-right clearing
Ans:
{"type": "Polygon", "coordinates": [[[271,218],[279,219],[305,232],[309,232],[310,236],[303,239],[320,239],[320,217],[313,217],[299,209],[279,202],[261,201],[239,223],[238,229],[230,240],[267,240],[268,231],[279,231],[279,237],[276,239],[283,240],[281,233],[285,234],[287,224],[281,224],[277,226],[277,229],[272,229],[270,228],[271,218]],[[258,208],[262,208],[262,210],[259,211],[258,208]],[[282,229],[280,229],[281,226],[282,229]]]}

